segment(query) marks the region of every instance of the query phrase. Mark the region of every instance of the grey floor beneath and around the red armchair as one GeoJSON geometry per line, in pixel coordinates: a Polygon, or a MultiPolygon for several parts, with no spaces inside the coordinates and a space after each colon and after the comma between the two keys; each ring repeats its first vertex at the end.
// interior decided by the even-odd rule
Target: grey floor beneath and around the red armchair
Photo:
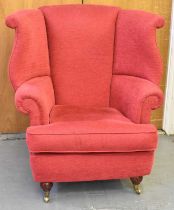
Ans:
{"type": "Polygon", "coordinates": [[[129,180],[59,183],[45,204],[32,181],[24,135],[0,135],[0,210],[174,210],[174,136],[160,135],[142,189],[136,195],[129,180]]]}

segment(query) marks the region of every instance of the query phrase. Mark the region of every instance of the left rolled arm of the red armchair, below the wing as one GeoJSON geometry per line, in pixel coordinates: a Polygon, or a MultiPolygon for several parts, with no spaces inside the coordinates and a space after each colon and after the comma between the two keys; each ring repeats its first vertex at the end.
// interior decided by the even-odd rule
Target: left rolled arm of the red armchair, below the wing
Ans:
{"type": "Polygon", "coordinates": [[[49,123],[49,114],[55,104],[53,85],[49,76],[24,82],[15,93],[19,111],[30,115],[30,125],[49,123]]]}

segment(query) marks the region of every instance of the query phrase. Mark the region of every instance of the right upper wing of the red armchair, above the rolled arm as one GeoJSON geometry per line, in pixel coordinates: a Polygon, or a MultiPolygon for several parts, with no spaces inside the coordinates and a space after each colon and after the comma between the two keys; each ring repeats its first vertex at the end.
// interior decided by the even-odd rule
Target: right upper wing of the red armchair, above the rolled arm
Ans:
{"type": "Polygon", "coordinates": [[[114,74],[141,77],[159,84],[162,75],[156,28],[164,19],[143,11],[121,10],[116,27],[114,74]]]}

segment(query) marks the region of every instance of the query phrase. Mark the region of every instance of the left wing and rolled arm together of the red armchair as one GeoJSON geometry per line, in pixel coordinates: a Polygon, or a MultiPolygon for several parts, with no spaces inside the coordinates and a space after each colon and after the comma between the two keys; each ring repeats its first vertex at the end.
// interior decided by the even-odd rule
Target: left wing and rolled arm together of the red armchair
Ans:
{"type": "Polygon", "coordinates": [[[9,62],[16,106],[30,115],[30,125],[48,124],[55,99],[44,17],[40,10],[23,10],[8,16],[6,24],[16,31],[9,62]]]}

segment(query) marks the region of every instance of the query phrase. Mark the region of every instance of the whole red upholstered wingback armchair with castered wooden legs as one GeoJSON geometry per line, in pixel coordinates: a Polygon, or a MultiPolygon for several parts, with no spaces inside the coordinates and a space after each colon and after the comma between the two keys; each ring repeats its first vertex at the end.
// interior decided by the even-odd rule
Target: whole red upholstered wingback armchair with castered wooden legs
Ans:
{"type": "Polygon", "coordinates": [[[162,17],[117,7],[46,6],[6,19],[16,29],[9,63],[17,108],[30,116],[33,178],[53,182],[150,174],[162,103],[156,28],[162,17]]]}

